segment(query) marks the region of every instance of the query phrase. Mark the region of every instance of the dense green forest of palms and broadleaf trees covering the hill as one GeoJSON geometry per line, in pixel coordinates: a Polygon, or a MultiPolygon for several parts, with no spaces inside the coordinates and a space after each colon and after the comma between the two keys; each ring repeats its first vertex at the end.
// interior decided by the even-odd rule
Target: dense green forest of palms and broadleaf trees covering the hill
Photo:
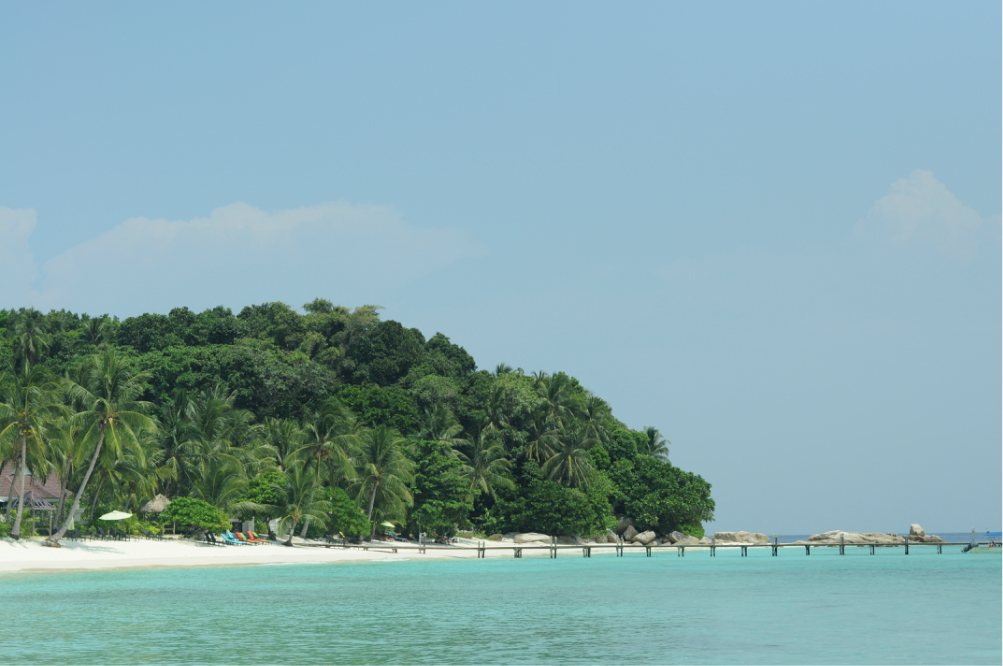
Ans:
{"type": "MultiPolygon", "coordinates": [[[[477,370],[378,310],[0,310],[0,473],[55,473],[73,491],[56,525],[69,503],[92,523],[162,493],[160,524],[193,530],[591,536],[628,517],[703,535],[710,484],[656,428],[628,428],[563,372],[477,370]]],[[[3,518],[19,536],[21,512],[3,518]]]]}

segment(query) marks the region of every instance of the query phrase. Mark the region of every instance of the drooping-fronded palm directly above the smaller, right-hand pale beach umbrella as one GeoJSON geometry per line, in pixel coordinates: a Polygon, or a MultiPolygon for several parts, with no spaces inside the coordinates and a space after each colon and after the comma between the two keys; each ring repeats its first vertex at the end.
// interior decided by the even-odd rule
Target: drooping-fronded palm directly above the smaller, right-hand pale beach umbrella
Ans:
{"type": "Polygon", "coordinates": [[[372,521],[377,497],[386,516],[403,516],[414,503],[407,483],[414,482],[414,463],[402,450],[404,438],[386,425],[377,425],[362,435],[357,462],[358,500],[367,500],[366,518],[372,521]],[[368,497],[367,497],[368,495],[368,497]]]}

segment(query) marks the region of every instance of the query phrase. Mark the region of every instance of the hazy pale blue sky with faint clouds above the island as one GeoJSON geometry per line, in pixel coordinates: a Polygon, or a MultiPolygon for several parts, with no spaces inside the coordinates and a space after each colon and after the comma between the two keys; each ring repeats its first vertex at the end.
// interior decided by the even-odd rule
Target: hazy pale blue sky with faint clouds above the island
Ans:
{"type": "Polygon", "coordinates": [[[0,308],[563,370],[711,530],[1003,524],[1001,7],[5,3],[0,308]]]}

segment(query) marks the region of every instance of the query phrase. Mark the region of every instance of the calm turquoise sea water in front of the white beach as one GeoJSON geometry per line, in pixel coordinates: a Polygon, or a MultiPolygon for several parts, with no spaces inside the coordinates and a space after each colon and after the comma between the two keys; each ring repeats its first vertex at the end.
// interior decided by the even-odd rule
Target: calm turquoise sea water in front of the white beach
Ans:
{"type": "Polygon", "coordinates": [[[1001,559],[628,552],[19,574],[5,663],[999,664],[1001,559]]]}

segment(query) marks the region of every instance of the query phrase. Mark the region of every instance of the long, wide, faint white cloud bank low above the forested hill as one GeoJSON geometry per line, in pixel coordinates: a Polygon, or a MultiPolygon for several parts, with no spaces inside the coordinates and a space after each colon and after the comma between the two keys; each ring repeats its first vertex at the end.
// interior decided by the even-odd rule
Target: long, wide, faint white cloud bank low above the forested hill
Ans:
{"type": "MultiPolygon", "coordinates": [[[[30,221],[27,235],[33,212],[30,221]]],[[[7,226],[20,230],[12,237],[26,253],[25,224],[7,226]]],[[[37,292],[28,293],[29,281],[0,296],[5,305],[28,293],[41,308],[114,313],[270,300],[299,305],[297,299],[314,296],[371,302],[382,290],[479,252],[457,231],[417,229],[387,207],[324,204],[268,213],[232,204],[188,221],[126,220],[46,262],[37,292]]],[[[33,267],[26,256],[24,265],[33,267]]]]}

